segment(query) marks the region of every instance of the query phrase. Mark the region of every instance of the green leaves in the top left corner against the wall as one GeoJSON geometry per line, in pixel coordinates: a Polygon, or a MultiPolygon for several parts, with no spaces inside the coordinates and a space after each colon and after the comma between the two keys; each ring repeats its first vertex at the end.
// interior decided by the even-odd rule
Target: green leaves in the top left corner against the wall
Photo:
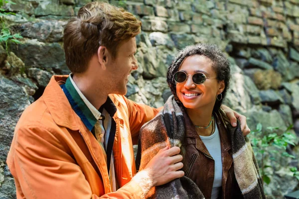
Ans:
{"type": "Polygon", "coordinates": [[[8,53],[8,44],[9,42],[14,43],[20,43],[18,39],[23,38],[20,34],[11,34],[9,28],[7,27],[7,24],[5,23],[5,20],[3,19],[6,15],[15,15],[14,12],[8,12],[6,9],[3,9],[3,5],[6,3],[15,4],[14,2],[10,0],[0,0],[0,43],[4,44],[5,50],[8,53]]]}

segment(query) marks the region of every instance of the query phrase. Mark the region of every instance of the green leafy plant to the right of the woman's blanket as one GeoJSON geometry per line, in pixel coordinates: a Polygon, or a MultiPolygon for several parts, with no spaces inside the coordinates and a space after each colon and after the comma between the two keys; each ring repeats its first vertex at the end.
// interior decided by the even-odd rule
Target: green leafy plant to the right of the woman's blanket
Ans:
{"type": "MultiPolygon", "coordinates": [[[[276,158],[273,154],[276,154],[276,157],[283,158],[295,158],[295,156],[289,154],[287,150],[287,146],[293,145],[295,146],[296,136],[289,132],[293,128],[293,125],[289,126],[287,130],[283,133],[276,133],[279,127],[267,127],[263,130],[263,126],[261,123],[257,124],[256,130],[251,133],[251,136],[254,136],[251,139],[251,144],[254,149],[255,155],[260,154],[262,156],[261,160],[258,159],[259,165],[261,165],[261,176],[263,182],[267,185],[271,182],[270,174],[267,173],[268,167],[273,167],[273,164],[269,165],[269,162],[266,163],[267,160],[276,161],[276,158]]],[[[278,162],[277,162],[278,163],[278,162]]],[[[294,173],[294,176],[299,179],[299,171],[297,168],[290,168],[290,170],[294,173]],[[297,173],[296,173],[297,172],[297,173]],[[296,173],[296,174],[295,174],[296,173]]]]}

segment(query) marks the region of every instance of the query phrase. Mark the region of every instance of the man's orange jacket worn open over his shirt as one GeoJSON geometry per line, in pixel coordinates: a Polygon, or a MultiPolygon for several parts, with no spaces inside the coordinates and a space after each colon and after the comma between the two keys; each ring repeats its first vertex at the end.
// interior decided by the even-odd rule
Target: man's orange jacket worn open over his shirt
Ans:
{"type": "Polygon", "coordinates": [[[43,95],[25,109],[14,131],[7,165],[17,199],[144,198],[136,174],[133,143],[141,126],[158,109],[110,95],[117,112],[113,146],[115,172],[121,187],[111,193],[101,146],[73,111],[53,76],[43,95]]]}

